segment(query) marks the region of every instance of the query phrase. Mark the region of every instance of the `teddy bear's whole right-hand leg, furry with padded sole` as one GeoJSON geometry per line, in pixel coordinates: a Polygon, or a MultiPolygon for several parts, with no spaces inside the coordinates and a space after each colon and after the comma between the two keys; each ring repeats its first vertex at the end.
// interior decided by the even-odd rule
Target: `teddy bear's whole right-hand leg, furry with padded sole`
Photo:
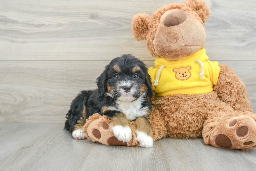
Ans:
{"type": "Polygon", "coordinates": [[[256,115],[249,111],[234,111],[217,98],[215,107],[204,123],[206,144],[230,149],[256,147],[256,115]]]}

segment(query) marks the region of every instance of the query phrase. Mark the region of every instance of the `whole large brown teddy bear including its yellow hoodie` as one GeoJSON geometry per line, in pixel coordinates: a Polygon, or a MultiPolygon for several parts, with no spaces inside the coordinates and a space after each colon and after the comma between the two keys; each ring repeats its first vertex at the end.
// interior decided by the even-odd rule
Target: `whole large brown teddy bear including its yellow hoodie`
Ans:
{"type": "MultiPolygon", "coordinates": [[[[256,147],[256,115],[244,83],[225,64],[208,59],[204,23],[210,16],[203,0],[171,3],[152,14],[132,19],[132,34],[145,40],[155,60],[149,68],[154,96],[149,121],[154,141],[164,137],[203,137],[206,144],[229,149],[256,147]]],[[[135,124],[130,142],[119,142],[111,121],[91,116],[84,132],[88,139],[106,145],[139,146],[135,124]],[[104,125],[104,126],[103,126],[104,125]],[[97,129],[100,136],[95,137],[97,129]]]]}

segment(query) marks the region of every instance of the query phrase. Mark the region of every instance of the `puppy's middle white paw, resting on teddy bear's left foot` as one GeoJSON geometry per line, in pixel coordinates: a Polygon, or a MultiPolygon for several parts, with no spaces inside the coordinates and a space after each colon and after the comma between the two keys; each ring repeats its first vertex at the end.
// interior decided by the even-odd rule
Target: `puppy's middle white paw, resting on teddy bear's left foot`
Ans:
{"type": "Polygon", "coordinates": [[[129,126],[111,126],[110,130],[114,132],[115,137],[117,137],[119,141],[129,142],[131,140],[131,128],[129,126]]]}

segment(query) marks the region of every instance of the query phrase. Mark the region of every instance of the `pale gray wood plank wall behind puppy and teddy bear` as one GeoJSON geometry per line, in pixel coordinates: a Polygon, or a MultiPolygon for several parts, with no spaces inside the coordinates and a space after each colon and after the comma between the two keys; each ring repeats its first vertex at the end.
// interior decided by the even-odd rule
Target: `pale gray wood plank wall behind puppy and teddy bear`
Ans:
{"type": "MultiPolygon", "coordinates": [[[[63,123],[69,104],[114,57],[154,58],[131,34],[137,13],[183,0],[1,0],[0,122],[63,123]]],[[[206,53],[229,65],[256,108],[256,1],[206,0],[206,53]]]]}

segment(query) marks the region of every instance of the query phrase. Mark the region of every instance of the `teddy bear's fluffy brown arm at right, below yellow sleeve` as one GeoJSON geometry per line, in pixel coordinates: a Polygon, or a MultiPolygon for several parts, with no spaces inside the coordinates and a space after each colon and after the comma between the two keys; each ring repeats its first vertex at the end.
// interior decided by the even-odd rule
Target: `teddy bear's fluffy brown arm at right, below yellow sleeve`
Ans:
{"type": "Polygon", "coordinates": [[[252,111],[244,83],[227,65],[219,66],[219,79],[214,90],[218,93],[220,100],[228,103],[235,111],[252,111]]]}

